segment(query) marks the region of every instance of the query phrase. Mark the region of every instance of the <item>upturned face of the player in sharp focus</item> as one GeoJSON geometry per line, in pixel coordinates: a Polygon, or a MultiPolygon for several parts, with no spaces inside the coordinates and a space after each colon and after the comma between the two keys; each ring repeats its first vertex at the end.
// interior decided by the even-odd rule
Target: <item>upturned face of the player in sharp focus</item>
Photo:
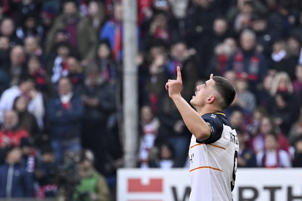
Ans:
{"type": "Polygon", "coordinates": [[[207,80],[203,85],[199,85],[196,87],[197,91],[195,92],[195,96],[192,97],[190,103],[196,108],[203,107],[206,104],[207,98],[210,96],[212,91],[212,85],[214,84],[214,80],[207,80]]]}

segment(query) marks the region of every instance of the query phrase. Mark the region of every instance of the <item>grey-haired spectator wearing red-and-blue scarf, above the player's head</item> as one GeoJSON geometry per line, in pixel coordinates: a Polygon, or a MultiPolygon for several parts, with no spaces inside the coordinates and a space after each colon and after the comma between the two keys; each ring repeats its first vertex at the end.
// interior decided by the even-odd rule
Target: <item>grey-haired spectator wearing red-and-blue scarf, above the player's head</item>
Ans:
{"type": "Polygon", "coordinates": [[[241,48],[229,59],[226,69],[237,74],[247,73],[251,92],[255,93],[256,83],[261,81],[267,71],[265,56],[256,49],[256,35],[251,30],[244,30],[240,35],[241,48]]]}

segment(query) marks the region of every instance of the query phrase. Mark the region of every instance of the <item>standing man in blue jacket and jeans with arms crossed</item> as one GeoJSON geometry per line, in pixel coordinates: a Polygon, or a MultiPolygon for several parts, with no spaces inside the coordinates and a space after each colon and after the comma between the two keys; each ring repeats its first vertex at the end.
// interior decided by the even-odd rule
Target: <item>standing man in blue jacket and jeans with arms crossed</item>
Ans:
{"type": "Polygon", "coordinates": [[[81,149],[82,115],[81,98],[73,94],[70,79],[61,78],[58,95],[52,97],[47,105],[49,134],[56,162],[62,162],[64,152],[81,149]]]}

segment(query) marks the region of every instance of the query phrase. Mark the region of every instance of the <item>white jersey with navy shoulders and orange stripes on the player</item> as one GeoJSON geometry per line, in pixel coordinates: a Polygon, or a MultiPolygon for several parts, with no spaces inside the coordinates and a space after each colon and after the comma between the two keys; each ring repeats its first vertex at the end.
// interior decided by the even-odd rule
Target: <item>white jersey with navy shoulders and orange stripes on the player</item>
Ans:
{"type": "Polygon", "coordinates": [[[192,190],[190,201],[232,201],[239,142],[222,112],[201,116],[211,130],[201,142],[192,135],[189,158],[192,190]]]}

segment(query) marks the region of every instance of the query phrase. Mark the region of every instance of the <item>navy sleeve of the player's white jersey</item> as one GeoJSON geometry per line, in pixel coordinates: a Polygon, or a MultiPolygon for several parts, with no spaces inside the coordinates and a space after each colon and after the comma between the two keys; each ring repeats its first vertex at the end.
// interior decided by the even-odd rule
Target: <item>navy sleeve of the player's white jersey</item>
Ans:
{"type": "Polygon", "coordinates": [[[210,128],[211,134],[207,140],[201,141],[204,144],[211,144],[220,139],[223,131],[223,124],[215,114],[205,114],[201,116],[210,128]]]}

